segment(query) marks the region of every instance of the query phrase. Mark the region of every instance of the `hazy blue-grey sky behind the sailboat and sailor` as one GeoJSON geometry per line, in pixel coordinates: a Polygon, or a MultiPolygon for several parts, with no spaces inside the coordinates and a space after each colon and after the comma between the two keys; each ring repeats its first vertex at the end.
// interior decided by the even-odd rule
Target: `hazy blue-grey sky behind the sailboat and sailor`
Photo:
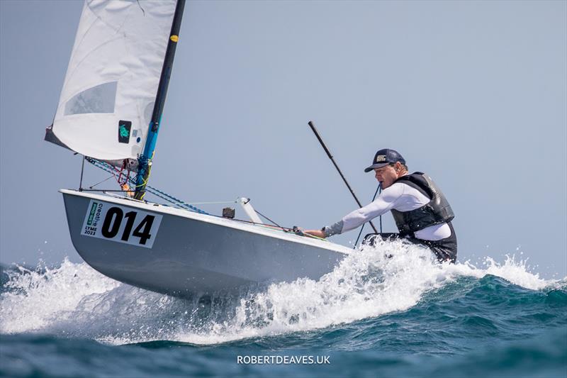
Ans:
{"type": "MultiPolygon", "coordinates": [[[[81,9],[0,1],[3,263],[80,261],[57,193],[78,187],[80,159],[43,130],[81,9]]],[[[395,148],[447,195],[459,260],[522,253],[563,277],[566,20],[565,1],[188,1],[150,184],[248,196],[286,226],[334,223],[356,204],[312,120],[361,201],[376,189],[364,167],[395,148]]]]}

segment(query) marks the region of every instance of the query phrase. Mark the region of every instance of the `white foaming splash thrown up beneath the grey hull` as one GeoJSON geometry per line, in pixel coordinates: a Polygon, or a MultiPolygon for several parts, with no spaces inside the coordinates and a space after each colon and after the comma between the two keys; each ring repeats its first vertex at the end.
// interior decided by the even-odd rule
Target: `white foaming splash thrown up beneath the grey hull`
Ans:
{"type": "MultiPolygon", "coordinates": [[[[525,261],[490,257],[438,264],[429,250],[398,240],[346,257],[318,281],[297,279],[232,296],[192,301],[120,284],[65,259],[60,267],[17,267],[0,295],[0,333],[47,333],[121,345],[171,340],[198,345],[282,335],[405,311],[460,277],[501,277],[525,289],[557,285],[525,261]]],[[[563,285],[563,284],[562,284],[563,285]]]]}

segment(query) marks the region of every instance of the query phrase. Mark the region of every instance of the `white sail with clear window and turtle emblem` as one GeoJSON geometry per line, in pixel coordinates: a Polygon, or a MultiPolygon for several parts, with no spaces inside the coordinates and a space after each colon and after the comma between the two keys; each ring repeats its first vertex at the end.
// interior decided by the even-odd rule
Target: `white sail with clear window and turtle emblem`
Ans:
{"type": "Polygon", "coordinates": [[[175,0],[86,0],[52,133],[99,160],[136,159],[152,118],[175,0]]]}

